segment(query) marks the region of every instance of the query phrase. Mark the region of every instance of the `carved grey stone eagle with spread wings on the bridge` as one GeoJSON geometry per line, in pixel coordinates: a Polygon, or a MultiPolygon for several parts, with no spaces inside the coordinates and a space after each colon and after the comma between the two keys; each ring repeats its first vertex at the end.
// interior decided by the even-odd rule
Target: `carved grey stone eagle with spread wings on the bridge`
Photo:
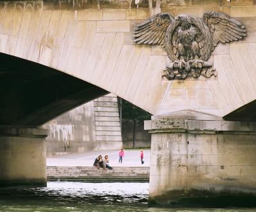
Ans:
{"type": "Polygon", "coordinates": [[[214,75],[207,62],[219,42],[241,40],[246,29],[237,20],[216,11],[207,11],[203,18],[159,13],[134,28],[134,42],[163,45],[172,63],[163,73],[167,79],[185,79],[214,75]]]}

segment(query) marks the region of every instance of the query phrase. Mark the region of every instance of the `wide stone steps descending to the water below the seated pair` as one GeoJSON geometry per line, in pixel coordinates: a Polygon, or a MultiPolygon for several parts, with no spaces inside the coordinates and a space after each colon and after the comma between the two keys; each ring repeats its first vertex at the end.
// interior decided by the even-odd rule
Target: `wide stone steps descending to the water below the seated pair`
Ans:
{"type": "Polygon", "coordinates": [[[88,183],[149,182],[149,167],[47,167],[48,181],[83,181],[88,183]]]}

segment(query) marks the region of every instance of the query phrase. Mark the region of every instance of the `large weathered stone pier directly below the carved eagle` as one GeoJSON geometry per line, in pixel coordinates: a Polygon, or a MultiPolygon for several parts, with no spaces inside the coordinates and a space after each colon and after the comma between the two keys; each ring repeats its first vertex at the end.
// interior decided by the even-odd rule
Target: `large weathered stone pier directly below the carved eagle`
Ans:
{"type": "Polygon", "coordinates": [[[150,206],[256,206],[256,123],[184,111],[153,116],[145,130],[150,206]]]}

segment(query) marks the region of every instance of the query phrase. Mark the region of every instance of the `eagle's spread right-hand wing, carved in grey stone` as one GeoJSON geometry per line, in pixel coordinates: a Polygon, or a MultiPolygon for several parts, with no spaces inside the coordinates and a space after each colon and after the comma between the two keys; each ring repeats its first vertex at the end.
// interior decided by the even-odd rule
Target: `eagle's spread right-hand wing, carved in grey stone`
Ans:
{"type": "Polygon", "coordinates": [[[246,36],[246,29],[243,24],[224,13],[207,11],[204,13],[203,19],[211,31],[214,47],[219,42],[237,41],[246,36]]]}

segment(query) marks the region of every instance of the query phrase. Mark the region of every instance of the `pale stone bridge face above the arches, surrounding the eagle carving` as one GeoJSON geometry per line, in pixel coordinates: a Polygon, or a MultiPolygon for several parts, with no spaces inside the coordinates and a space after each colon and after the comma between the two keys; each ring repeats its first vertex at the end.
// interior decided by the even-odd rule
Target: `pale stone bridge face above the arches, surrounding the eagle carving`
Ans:
{"type": "Polygon", "coordinates": [[[138,9],[88,1],[77,10],[73,4],[47,2],[0,3],[0,52],[74,75],[155,115],[193,109],[225,116],[256,98],[254,1],[166,1],[161,7],[143,1],[138,9]],[[199,17],[206,10],[222,11],[240,20],[247,36],[214,50],[210,61],[217,77],[161,80],[168,60],[164,50],[134,45],[131,33],[136,23],[160,10],[199,17]]]}

